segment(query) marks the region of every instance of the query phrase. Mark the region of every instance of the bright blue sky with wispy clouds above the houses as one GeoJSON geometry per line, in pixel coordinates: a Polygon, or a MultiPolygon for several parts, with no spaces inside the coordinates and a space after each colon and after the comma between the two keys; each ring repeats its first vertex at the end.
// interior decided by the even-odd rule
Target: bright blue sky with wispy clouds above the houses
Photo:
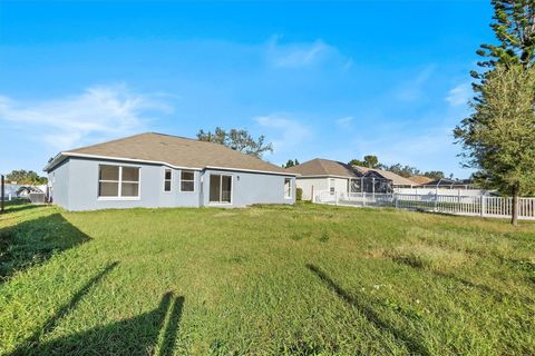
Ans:
{"type": "Polygon", "coordinates": [[[489,1],[0,2],[0,171],[143,131],[467,177],[451,129],[489,1]]]}

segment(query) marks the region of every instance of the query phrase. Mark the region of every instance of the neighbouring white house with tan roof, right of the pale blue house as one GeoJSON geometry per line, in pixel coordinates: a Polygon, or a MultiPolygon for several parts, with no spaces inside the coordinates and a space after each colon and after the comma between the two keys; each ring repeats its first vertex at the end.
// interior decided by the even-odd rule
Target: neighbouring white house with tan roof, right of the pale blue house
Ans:
{"type": "Polygon", "coordinates": [[[399,186],[415,185],[391,171],[347,165],[335,160],[315,158],[288,168],[299,174],[296,187],[303,190],[303,200],[313,200],[314,194],[391,192],[399,186]]]}

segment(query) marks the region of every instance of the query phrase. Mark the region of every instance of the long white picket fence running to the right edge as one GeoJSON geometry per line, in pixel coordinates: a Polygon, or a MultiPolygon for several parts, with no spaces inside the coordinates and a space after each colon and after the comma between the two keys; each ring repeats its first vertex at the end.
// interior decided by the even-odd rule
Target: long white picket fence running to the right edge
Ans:
{"type": "MultiPolygon", "coordinates": [[[[510,218],[513,211],[513,198],[484,195],[348,194],[324,190],[314,194],[313,202],[354,207],[387,207],[494,218],[510,218]]],[[[518,198],[518,218],[535,219],[535,198],[518,198]]]]}

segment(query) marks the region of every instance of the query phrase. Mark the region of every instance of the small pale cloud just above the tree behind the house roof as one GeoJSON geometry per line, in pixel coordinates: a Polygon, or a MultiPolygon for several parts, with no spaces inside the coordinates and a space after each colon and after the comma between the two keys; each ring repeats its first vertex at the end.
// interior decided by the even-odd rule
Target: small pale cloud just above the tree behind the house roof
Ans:
{"type": "Polygon", "coordinates": [[[311,131],[307,126],[279,113],[256,117],[254,121],[262,128],[273,131],[273,135],[270,135],[270,137],[275,137],[272,140],[275,154],[295,147],[311,136],[311,131]]]}

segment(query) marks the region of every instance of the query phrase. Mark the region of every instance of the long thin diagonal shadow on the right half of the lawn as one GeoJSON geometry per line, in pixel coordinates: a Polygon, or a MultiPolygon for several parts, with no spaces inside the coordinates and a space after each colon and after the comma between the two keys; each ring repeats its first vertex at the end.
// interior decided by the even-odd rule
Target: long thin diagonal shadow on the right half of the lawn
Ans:
{"type": "Polygon", "coordinates": [[[366,300],[366,297],[361,294],[349,294],[342,287],[340,287],[334,280],[332,280],[323,270],[318,266],[307,264],[307,268],[310,269],[321,281],[323,281],[329,289],[332,289],[343,301],[359,309],[364,317],[376,326],[378,329],[387,332],[396,337],[398,340],[402,342],[409,353],[417,355],[429,355],[427,348],[419,344],[416,339],[396,328],[393,325],[390,325],[379,317],[379,315],[371,308],[370,303],[366,300]]]}

